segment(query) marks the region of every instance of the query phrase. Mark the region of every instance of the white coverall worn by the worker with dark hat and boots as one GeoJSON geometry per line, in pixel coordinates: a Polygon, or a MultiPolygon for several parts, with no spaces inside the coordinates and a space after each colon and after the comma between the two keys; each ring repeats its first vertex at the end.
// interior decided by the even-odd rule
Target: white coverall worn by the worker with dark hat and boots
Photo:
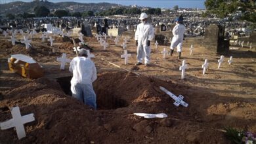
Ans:
{"type": "Polygon", "coordinates": [[[175,27],[173,27],[173,39],[171,40],[170,46],[171,50],[177,46],[177,52],[181,52],[185,31],[186,27],[183,24],[177,24],[175,27]]]}

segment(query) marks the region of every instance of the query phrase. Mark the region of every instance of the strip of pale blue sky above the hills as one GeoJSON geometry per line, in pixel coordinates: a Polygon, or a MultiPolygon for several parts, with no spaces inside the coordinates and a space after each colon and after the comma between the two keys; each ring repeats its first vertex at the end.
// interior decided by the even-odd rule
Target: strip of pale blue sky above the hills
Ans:
{"type": "MultiPolygon", "coordinates": [[[[16,0],[0,0],[0,3],[9,3],[13,2],[16,0]]],[[[25,2],[30,2],[32,0],[21,0],[25,2]]],[[[79,3],[117,3],[121,5],[138,5],[138,6],[144,6],[144,7],[159,7],[159,8],[173,8],[175,5],[178,5],[179,7],[182,8],[199,8],[199,9],[204,9],[204,2],[205,0],[137,0],[137,1],[127,1],[127,0],[48,0],[53,3],[57,3],[60,1],[74,1],[74,2],[79,2],[79,3]]]]}

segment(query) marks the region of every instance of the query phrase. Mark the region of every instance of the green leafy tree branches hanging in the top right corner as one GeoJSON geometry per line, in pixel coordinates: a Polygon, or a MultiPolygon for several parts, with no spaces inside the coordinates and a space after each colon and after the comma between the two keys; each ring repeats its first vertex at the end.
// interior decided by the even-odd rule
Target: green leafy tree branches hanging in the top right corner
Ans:
{"type": "Polygon", "coordinates": [[[238,20],[256,22],[255,0],[206,0],[205,7],[208,13],[216,14],[219,18],[232,16],[238,20]]]}

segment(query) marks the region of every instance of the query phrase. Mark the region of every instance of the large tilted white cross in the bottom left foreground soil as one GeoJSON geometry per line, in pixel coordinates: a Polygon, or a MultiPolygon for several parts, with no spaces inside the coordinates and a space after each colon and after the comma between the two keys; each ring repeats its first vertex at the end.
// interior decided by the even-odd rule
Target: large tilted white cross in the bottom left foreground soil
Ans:
{"type": "Polygon", "coordinates": [[[12,113],[11,120],[7,120],[5,122],[0,123],[1,130],[15,128],[16,133],[18,135],[18,139],[22,139],[23,137],[26,137],[26,131],[23,124],[26,124],[28,122],[32,122],[33,120],[35,120],[35,117],[33,117],[33,113],[29,115],[21,116],[19,107],[12,107],[11,113],[12,113]]]}

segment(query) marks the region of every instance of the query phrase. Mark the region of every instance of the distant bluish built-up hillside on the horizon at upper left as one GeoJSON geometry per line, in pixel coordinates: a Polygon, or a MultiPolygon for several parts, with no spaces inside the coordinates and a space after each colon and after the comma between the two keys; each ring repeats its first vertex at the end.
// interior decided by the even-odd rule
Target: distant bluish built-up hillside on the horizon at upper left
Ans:
{"type": "Polygon", "coordinates": [[[16,1],[12,3],[0,4],[0,14],[22,14],[24,12],[33,12],[37,5],[43,5],[53,12],[56,9],[66,9],[70,12],[83,12],[85,10],[101,11],[114,7],[124,7],[122,5],[112,3],[76,3],[76,2],[60,2],[51,3],[49,1],[32,1],[22,2],[16,1]]]}

